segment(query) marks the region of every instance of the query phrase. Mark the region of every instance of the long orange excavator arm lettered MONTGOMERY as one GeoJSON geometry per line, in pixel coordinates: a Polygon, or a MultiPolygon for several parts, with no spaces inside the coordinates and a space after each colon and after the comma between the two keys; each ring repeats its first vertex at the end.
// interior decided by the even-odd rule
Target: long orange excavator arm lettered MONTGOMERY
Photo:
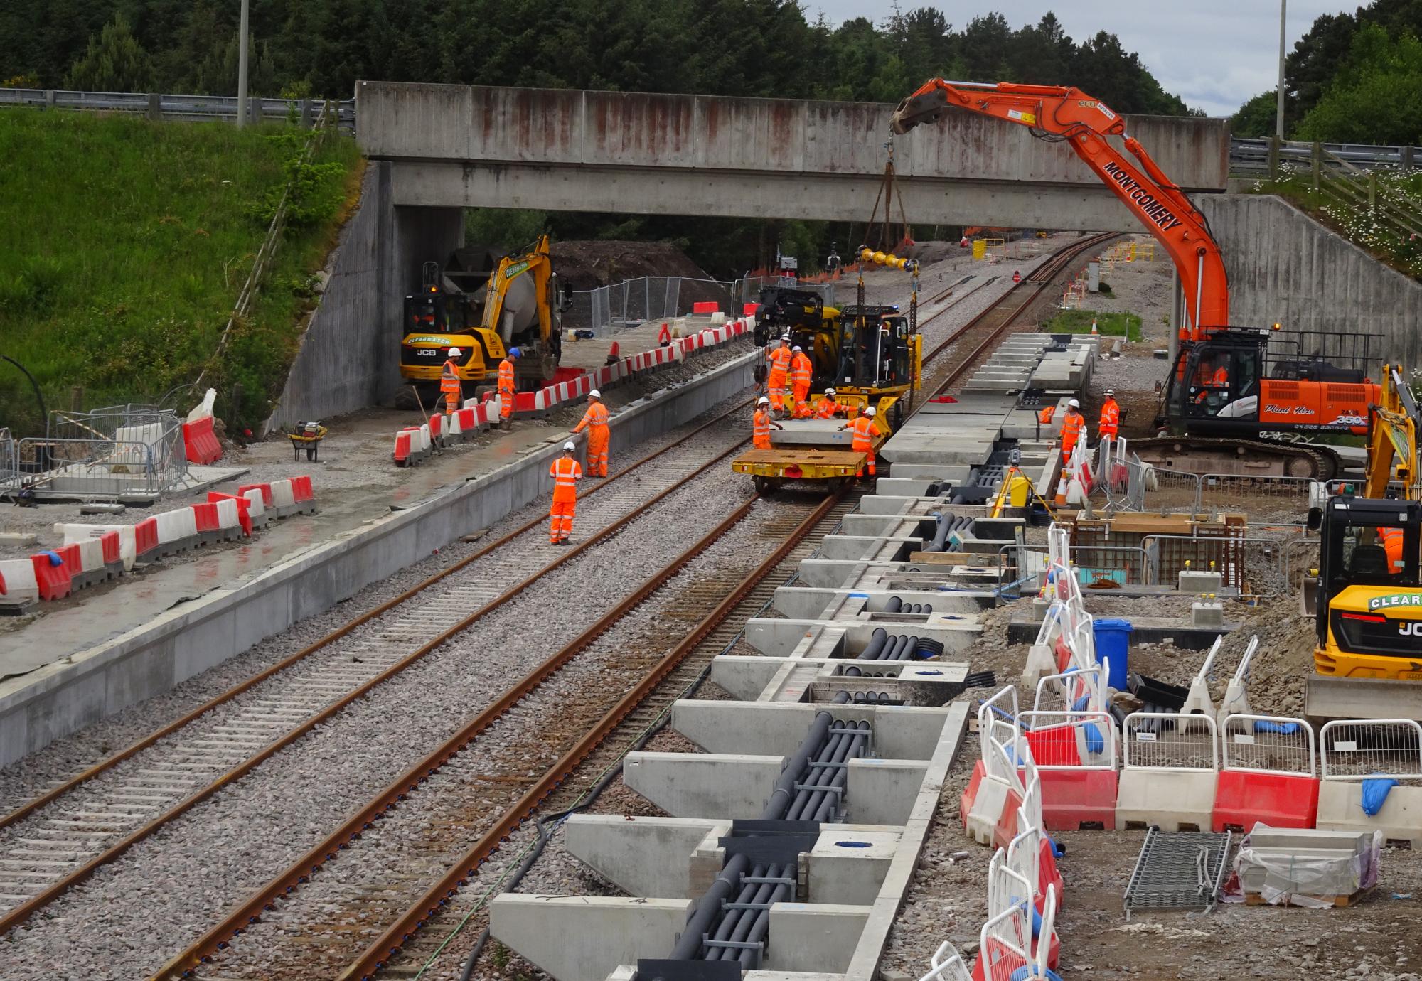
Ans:
{"type": "Polygon", "coordinates": [[[1012,82],[950,82],[930,78],[899,104],[893,131],[904,134],[958,108],[1027,127],[1042,139],[1071,144],[1086,166],[1130,209],[1175,260],[1190,318],[1190,340],[1230,323],[1229,282],[1220,249],[1204,216],[1156,166],[1145,148],[1126,134],[1126,124],[1103,102],[1079,88],[1012,82]],[[1135,158],[1122,155],[1106,136],[1121,136],[1135,158]]]}

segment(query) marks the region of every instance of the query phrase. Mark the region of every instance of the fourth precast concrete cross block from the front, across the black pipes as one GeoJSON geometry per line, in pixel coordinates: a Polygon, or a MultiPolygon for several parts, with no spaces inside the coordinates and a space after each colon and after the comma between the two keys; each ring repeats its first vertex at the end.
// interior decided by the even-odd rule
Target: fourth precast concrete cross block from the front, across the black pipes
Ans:
{"type": "MultiPolygon", "coordinates": [[[[867,721],[870,724],[870,752],[875,759],[929,759],[939,745],[951,711],[951,707],[681,699],[671,708],[671,728],[708,754],[779,754],[785,756],[795,752],[805,741],[805,734],[815,717],[819,712],[829,712],[840,722],[867,721]]],[[[677,754],[663,755],[675,756],[677,754]]],[[[683,758],[700,759],[701,756],[683,758]]]]}

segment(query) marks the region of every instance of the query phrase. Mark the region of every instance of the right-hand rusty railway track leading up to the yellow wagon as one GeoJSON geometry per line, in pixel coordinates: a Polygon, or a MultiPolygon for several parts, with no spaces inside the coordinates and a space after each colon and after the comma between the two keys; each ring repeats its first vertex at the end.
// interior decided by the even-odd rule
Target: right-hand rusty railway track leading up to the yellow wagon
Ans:
{"type": "Polygon", "coordinates": [[[737,508],[154,978],[262,978],[274,965],[293,977],[370,977],[582,762],[597,759],[609,734],[685,688],[711,655],[698,641],[822,522],[833,527],[836,505],[852,506],[786,496],[737,508]],[[729,554],[711,557],[738,533],[722,549],[729,554]],[[752,550],[768,557],[747,569],[752,550]],[[673,581],[684,570],[691,583],[673,581]],[[326,870],[333,862],[350,872],[326,870]],[[370,941],[363,930],[377,926],[384,931],[370,941]]]}

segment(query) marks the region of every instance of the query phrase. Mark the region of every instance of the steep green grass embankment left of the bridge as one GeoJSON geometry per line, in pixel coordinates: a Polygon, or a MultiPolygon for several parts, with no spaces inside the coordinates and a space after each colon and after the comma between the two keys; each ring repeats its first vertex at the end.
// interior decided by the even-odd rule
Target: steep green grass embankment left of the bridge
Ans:
{"type": "MultiPolygon", "coordinates": [[[[23,364],[48,407],[156,402],[212,358],[290,178],[294,128],[148,122],[78,112],[0,111],[0,354],[23,364]]],[[[252,425],[280,392],[313,273],[360,191],[354,141],[334,134],[306,172],[250,317],[203,387],[219,415],[252,425]],[[232,404],[235,385],[242,402],[232,404]]],[[[168,398],[179,414],[201,392],[168,398]]],[[[28,381],[0,361],[0,425],[43,435],[28,381]]]]}

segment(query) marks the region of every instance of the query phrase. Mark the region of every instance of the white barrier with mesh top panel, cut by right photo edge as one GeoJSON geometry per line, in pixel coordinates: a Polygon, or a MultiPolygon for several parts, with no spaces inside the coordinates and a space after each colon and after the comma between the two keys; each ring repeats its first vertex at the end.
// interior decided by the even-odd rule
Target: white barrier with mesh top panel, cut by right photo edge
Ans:
{"type": "Polygon", "coordinates": [[[1318,731],[1322,782],[1317,826],[1381,830],[1422,849],[1422,725],[1415,719],[1334,719],[1318,731]],[[1362,809],[1365,781],[1398,781],[1376,813],[1362,809]]]}

